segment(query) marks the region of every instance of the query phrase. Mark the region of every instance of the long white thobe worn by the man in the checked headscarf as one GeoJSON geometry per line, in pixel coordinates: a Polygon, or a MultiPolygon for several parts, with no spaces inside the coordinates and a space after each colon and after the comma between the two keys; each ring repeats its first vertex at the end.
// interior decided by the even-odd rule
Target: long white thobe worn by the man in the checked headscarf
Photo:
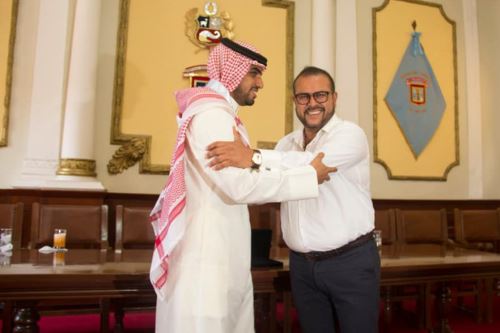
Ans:
{"type": "Polygon", "coordinates": [[[165,299],[158,299],[156,332],[254,332],[248,203],[318,195],[311,166],[276,169],[207,167],[206,148],[232,141],[235,111],[226,100],[203,108],[187,130],[184,237],[170,256],[165,299]]]}

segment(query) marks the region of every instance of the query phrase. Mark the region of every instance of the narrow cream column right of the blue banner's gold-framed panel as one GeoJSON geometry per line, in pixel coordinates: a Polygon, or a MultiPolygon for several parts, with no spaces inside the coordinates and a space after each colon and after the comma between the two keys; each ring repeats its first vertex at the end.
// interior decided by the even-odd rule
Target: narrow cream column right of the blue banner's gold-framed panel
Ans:
{"type": "Polygon", "coordinates": [[[462,0],[464,13],[465,76],[469,198],[483,197],[483,142],[481,137],[481,87],[476,0],[462,0]]]}

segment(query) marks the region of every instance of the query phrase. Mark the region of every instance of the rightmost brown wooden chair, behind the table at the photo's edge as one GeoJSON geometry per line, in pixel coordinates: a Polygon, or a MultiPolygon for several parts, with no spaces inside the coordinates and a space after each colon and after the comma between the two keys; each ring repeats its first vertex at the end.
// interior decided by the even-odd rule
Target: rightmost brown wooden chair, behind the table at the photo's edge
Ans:
{"type": "MultiPolygon", "coordinates": [[[[455,240],[459,246],[500,253],[500,208],[488,210],[454,210],[455,240]]],[[[457,287],[458,305],[463,306],[462,297],[475,295],[474,312],[477,321],[482,320],[485,312],[486,321],[492,321],[493,296],[498,293],[499,279],[486,281],[463,281],[457,287]],[[482,283],[486,286],[486,304],[482,311],[482,283]]]]}

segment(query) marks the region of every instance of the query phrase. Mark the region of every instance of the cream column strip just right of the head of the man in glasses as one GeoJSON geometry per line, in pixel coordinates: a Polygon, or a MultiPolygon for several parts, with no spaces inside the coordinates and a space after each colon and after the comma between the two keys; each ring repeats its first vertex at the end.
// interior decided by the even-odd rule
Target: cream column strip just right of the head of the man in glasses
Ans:
{"type": "Polygon", "coordinates": [[[336,23],[337,112],[342,118],[358,123],[359,78],[356,1],[337,0],[336,23]]]}

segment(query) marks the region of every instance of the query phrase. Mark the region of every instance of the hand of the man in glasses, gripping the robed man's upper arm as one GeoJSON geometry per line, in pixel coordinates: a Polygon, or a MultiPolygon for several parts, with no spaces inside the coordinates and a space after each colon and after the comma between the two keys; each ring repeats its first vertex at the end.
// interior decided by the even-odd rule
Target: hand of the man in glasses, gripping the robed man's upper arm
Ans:
{"type": "Polygon", "coordinates": [[[240,133],[233,127],[234,141],[216,141],[207,147],[208,166],[221,170],[227,167],[249,168],[252,166],[252,148],[246,146],[240,133]]]}

